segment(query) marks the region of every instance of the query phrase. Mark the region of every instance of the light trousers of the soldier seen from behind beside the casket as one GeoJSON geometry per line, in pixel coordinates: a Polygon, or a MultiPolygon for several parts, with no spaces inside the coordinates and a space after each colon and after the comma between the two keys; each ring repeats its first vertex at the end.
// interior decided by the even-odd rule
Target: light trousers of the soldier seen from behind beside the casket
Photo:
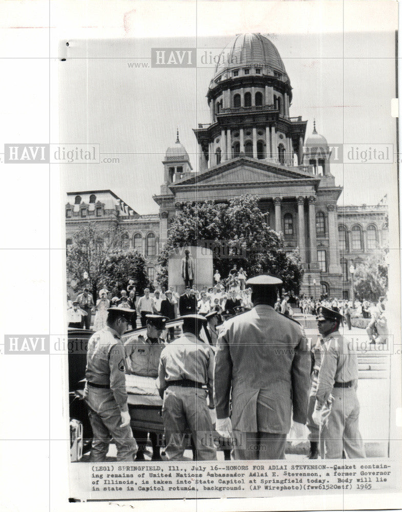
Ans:
{"type": "Polygon", "coordinates": [[[165,454],[168,460],[183,460],[186,433],[191,432],[198,460],[216,460],[211,435],[213,428],[206,402],[206,391],[170,386],[165,390],[162,408],[165,454]]]}

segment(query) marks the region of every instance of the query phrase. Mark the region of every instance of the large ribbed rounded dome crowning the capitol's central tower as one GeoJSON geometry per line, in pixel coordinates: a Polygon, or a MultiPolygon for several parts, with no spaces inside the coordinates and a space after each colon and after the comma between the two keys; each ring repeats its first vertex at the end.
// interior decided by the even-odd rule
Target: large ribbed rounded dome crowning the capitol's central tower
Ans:
{"type": "Polygon", "coordinates": [[[215,76],[243,66],[260,65],[286,75],[284,63],[277,48],[261,34],[237,34],[219,55],[215,76]]]}

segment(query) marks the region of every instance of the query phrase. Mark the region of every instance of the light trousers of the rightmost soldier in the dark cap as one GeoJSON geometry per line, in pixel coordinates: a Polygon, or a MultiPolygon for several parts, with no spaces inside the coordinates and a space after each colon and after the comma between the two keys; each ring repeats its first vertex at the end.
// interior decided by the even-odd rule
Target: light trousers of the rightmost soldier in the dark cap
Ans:
{"type": "Polygon", "coordinates": [[[358,428],[359,403],[354,388],[334,388],[331,413],[320,429],[320,453],[323,459],[366,457],[358,428]]]}

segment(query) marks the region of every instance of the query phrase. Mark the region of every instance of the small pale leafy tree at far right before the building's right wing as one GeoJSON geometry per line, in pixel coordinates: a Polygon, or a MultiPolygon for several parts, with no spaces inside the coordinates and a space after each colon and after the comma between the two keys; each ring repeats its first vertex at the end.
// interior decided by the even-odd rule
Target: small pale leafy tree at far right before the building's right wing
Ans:
{"type": "Polygon", "coordinates": [[[356,266],[354,272],[354,293],[359,300],[364,298],[377,302],[388,290],[387,252],[376,250],[367,261],[356,266]]]}

